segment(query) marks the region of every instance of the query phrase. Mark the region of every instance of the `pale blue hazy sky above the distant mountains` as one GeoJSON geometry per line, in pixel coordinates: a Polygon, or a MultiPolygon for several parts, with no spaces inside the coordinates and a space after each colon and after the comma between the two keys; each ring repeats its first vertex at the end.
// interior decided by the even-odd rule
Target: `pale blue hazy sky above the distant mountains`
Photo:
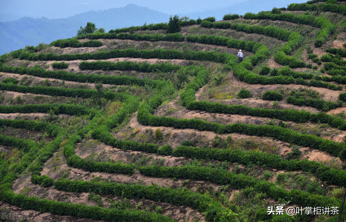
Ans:
{"type": "Polygon", "coordinates": [[[90,10],[124,7],[129,3],[172,14],[217,9],[244,1],[246,0],[0,0],[0,14],[49,19],[66,18],[90,10]]]}

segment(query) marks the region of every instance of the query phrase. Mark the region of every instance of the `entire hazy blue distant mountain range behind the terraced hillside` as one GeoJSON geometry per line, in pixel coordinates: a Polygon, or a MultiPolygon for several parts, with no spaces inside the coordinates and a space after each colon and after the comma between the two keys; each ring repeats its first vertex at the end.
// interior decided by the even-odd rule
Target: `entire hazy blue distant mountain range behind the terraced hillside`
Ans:
{"type": "MultiPolygon", "coordinates": [[[[207,10],[197,13],[182,13],[180,16],[189,16],[197,19],[214,16],[218,20],[228,13],[244,13],[250,11],[257,13],[263,10],[271,10],[273,7],[286,7],[292,0],[277,0],[275,4],[264,1],[248,0],[234,6],[207,10]]],[[[296,0],[304,2],[304,0],[296,0]]],[[[3,16],[3,15],[2,15],[3,16]]],[[[16,15],[7,15],[7,18],[17,19],[16,15]]],[[[106,31],[128,26],[167,22],[170,15],[149,9],[147,7],[128,4],[121,8],[112,8],[103,11],[88,11],[78,15],[62,19],[30,18],[23,17],[19,20],[0,22],[0,55],[24,48],[26,45],[36,46],[39,43],[51,43],[61,38],[71,38],[77,34],[80,26],[86,22],[95,23],[97,28],[106,31]]]]}

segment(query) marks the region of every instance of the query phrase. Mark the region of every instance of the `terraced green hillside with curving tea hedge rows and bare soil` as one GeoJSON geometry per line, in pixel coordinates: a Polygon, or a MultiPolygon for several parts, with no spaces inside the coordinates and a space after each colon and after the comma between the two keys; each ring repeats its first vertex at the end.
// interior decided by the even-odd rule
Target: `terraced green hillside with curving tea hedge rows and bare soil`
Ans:
{"type": "Polygon", "coordinates": [[[1,219],[345,221],[345,13],[314,0],[2,55],[1,219]]]}

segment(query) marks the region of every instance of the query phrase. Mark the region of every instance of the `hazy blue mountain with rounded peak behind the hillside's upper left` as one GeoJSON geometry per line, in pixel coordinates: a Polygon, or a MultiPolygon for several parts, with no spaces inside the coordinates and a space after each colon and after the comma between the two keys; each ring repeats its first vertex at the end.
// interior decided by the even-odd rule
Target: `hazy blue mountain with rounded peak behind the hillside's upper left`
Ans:
{"type": "Polygon", "coordinates": [[[30,18],[0,22],[0,55],[24,48],[25,45],[51,43],[56,39],[70,38],[77,34],[80,26],[94,22],[96,27],[109,29],[157,23],[169,20],[169,15],[129,4],[122,8],[104,11],[88,11],[64,19],[30,18]]]}

